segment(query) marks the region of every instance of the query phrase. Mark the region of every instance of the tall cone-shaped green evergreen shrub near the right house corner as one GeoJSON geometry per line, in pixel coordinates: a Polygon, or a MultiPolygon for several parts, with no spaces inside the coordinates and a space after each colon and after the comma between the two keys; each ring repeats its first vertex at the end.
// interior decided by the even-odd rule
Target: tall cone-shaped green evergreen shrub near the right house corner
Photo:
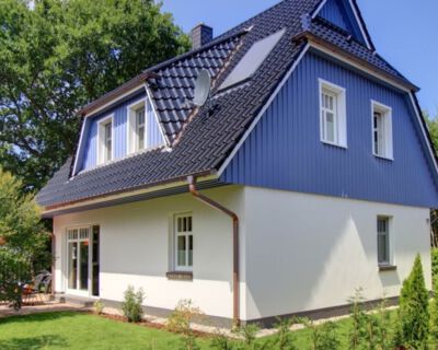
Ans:
{"type": "Polygon", "coordinates": [[[424,349],[429,332],[429,295],[425,285],[419,255],[400,295],[396,346],[424,349]]]}

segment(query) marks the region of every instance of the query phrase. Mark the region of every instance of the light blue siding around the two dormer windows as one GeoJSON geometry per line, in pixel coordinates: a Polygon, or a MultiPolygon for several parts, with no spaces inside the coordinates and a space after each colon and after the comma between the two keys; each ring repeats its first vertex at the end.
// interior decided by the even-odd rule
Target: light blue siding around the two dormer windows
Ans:
{"type": "MultiPolygon", "coordinates": [[[[84,128],[84,137],[82,138],[83,147],[80,145],[80,154],[78,160],[78,172],[95,167],[97,164],[97,125],[103,118],[113,115],[113,152],[114,160],[123,159],[127,155],[127,120],[128,106],[135,104],[146,97],[146,93],[141,92],[136,96],[118,104],[103,114],[87,120],[88,126],[84,128]]],[[[164,144],[160,127],[150,104],[147,104],[147,147],[154,148],[164,144]]]]}

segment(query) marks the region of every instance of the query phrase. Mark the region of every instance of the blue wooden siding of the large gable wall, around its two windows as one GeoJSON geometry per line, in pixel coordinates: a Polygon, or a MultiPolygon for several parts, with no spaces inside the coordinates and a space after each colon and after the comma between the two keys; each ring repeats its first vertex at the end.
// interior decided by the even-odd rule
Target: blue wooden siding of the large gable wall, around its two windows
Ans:
{"type": "Polygon", "coordinates": [[[307,54],[223,172],[227,183],[438,207],[435,173],[407,96],[307,54]],[[346,89],[347,142],[320,141],[319,81],[346,89]],[[372,155],[371,100],[392,107],[394,161],[372,155]]]}

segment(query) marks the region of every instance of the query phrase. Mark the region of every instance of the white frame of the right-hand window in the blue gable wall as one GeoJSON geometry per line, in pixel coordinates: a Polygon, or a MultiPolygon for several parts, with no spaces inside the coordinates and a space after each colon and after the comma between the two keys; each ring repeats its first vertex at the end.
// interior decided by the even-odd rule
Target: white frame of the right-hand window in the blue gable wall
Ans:
{"type": "Polygon", "coordinates": [[[372,154],[377,158],[393,161],[393,140],[392,140],[392,108],[380,102],[371,100],[371,144],[372,154]],[[379,154],[374,147],[374,113],[380,113],[383,118],[383,142],[384,153],[379,154]]]}

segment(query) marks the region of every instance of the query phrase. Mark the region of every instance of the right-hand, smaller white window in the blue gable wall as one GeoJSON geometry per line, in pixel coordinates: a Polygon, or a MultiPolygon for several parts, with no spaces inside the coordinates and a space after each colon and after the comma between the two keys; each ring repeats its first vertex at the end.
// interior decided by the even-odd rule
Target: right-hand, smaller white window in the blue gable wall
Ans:
{"type": "Polygon", "coordinates": [[[376,101],[372,110],[372,153],[376,156],[392,160],[392,109],[376,101]]]}

